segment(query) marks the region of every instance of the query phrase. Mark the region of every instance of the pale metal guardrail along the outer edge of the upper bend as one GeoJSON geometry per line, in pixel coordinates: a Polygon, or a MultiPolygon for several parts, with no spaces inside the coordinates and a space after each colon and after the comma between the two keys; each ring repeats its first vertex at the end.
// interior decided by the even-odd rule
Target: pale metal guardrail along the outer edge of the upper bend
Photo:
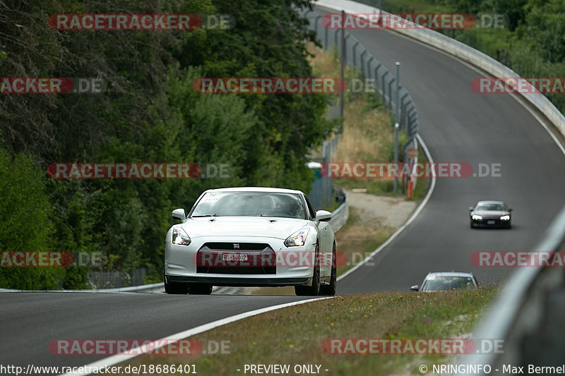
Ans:
{"type": "MultiPolygon", "coordinates": [[[[365,4],[359,4],[355,1],[349,0],[321,0],[317,1],[316,4],[324,6],[326,8],[334,9],[335,11],[341,11],[342,9],[346,13],[376,13],[379,11],[374,6],[368,6],[365,4]]],[[[381,11],[383,14],[390,14],[381,11]]],[[[408,21],[406,21],[408,23],[408,21]]],[[[487,54],[483,54],[481,51],[469,47],[467,44],[454,40],[453,38],[447,37],[435,30],[430,30],[426,28],[417,29],[395,29],[394,32],[410,37],[413,40],[418,40],[429,46],[436,47],[441,51],[446,52],[452,56],[456,56],[459,59],[470,63],[477,68],[482,69],[494,77],[498,78],[520,78],[518,73],[512,71],[510,68],[504,64],[492,59],[492,57],[487,54]]],[[[469,83],[470,85],[470,83],[469,83]]],[[[549,121],[551,121],[554,126],[565,135],[565,116],[561,114],[561,111],[552,104],[545,95],[539,92],[528,92],[528,93],[518,93],[524,99],[526,99],[530,104],[533,105],[537,110],[544,114],[549,121]]]]}

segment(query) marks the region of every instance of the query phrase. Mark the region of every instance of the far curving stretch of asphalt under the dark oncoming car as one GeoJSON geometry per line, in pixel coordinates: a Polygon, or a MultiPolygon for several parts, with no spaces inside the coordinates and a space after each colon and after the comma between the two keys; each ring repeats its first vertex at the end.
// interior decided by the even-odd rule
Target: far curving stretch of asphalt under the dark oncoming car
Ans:
{"type": "Polygon", "coordinates": [[[471,81],[482,75],[457,59],[392,32],[349,31],[389,71],[400,61],[400,81],[416,103],[420,135],[434,162],[468,162],[474,171],[479,164],[500,164],[500,176],[437,178],[417,219],[371,266],[342,279],[338,293],[406,290],[432,271],[504,281],[511,269],[475,267],[470,257],[536,245],[565,205],[565,155],[511,95],[473,92],[471,81]],[[468,207],[477,200],[506,201],[514,210],[513,228],[470,229],[468,207]]]}

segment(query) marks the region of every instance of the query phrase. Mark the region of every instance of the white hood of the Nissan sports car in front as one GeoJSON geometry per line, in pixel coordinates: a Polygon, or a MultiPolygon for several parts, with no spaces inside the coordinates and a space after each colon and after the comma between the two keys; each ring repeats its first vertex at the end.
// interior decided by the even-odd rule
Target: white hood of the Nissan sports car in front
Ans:
{"type": "Polygon", "coordinates": [[[307,226],[306,219],[276,217],[189,218],[181,226],[191,238],[201,236],[263,236],[286,239],[307,226]]]}

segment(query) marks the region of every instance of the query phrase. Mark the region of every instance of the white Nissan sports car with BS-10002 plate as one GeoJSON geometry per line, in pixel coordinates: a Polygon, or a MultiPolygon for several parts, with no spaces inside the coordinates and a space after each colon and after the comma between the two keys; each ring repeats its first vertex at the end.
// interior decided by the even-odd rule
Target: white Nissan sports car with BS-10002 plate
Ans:
{"type": "Polygon", "coordinates": [[[295,286],[297,295],[334,295],[331,212],[300,190],[206,190],[165,238],[165,291],[209,294],[213,286],[295,286]]]}

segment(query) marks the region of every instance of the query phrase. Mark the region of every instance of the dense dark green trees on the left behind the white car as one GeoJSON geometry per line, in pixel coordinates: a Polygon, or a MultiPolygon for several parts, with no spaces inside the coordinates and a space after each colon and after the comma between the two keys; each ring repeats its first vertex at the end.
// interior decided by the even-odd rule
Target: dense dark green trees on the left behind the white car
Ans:
{"type": "MultiPolygon", "coordinates": [[[[147,267],[153,270],[147,280],[153,281],[160,278],[171,210],[188,210],[203,190],[249,185],[308,191],[305,156],[335,126],[323,116],[326,95],[209,95],[192,88],[198,77],[311,76],[306,44],[314,33],[293,6],[311,7],[311,1],[0,4],[4,77],[98,77],[108,84],[103,94],[3,95],[0,145],[16,157],[2,154],[2,166],[6,171],[27,166],[35,174],[30,181],[3,174],[0,211],[9,222],[0,229],[0,250],[41,245],[102,252],[103,267],[121,272],[147,267]],[[191,32],[53,30],[47,20],[57,13],[222,13],[234,16],[236,25],[191,32]],[[53,162],[231,168],[227,178],[46,181],[39,171],[53,162]],[[26,205],[34,207],[33,222],[26,205]],[[16,229],[28,234],[13,236],[16,229]],[[2,243],[8,240],[12,243],[2,243]]],[[[89,270],[73,266],[54,277],[45,270],[23,270],[22,278],[0,279],[0,286],[85,288],[89,270]]]]}

